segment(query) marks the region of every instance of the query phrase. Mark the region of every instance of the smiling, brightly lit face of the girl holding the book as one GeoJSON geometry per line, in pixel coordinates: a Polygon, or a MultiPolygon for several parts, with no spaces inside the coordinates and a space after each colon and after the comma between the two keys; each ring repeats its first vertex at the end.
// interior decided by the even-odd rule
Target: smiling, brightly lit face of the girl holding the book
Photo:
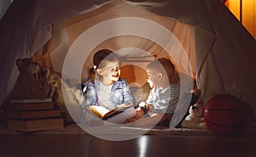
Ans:
{"type": "Polygon", "coordinates": [[[102,69],[97,69],[101,80],[105,85],[111,85],[113,81],[118,81],[120,76],[119,61],[108,62],[102,69]]]}

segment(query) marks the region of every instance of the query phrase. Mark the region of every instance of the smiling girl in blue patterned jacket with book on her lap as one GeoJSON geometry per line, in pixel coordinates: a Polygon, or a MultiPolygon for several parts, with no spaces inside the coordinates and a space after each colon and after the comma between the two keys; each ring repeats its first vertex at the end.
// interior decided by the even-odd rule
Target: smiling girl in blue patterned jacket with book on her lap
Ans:
{"type": "MultiPolygon", "coordinates": [[[[89,70],[87,81],[82,83],[82,92],[85,101],[80,123],[103,124],[95,115],[87,112],[89,105],[100,105],[107,109],[113,109],[120,104],[130,103],[134,105],[130,87],[123,78],[119,78],[119,59],[108,49],[102,49],[93,56],[94,67],[89,70]]],[[[136,109],[131,107],[119,115],[114,115],[108,122],[123,124],[126,119],[136,115],[136,109]]],[[[105,124],[108,124],[104,121],[105,124]]]]}

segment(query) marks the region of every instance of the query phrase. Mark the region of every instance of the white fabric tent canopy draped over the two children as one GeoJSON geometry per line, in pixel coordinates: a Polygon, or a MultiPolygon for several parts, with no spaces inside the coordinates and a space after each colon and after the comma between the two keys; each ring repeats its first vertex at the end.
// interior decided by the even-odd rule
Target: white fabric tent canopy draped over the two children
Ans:
{"type": "MultiPolygon", "coordinates": [[[[115,51],[139,48],[158,56],[172,54],[178,70],[185,73],[192,70],[189,74],[195,76],[203,95],[230,93],[238,98],[242,97],[250,104],[254,113],[256,112],[253,93],[256,88],[253,79],[253,68],[256,65],[253,60],[256,59],[255,40],[218,0],[15,0],[0,21],[0,103],[8,98],[19,75],[15,60],[31,57],[37,52],[38,48],[51,38],[51,24],[55,24],[51,61],[56,71],[63,71],[68,52],[73,48],[79,49],[75,42],[83,38],[85,31],[93,31],[93,26],[108,24],[110,20],[114,21],[120,17],[125,21],[113,26],[113,32],[108,32],[124,33],[122,29],[127,26],[129,34],[102,39],[95,48],[89,48],[92,53],[98,48],[111,47],[115,51]],[[128,17],[132,17],[132,20],[128,17]],[[152,24],[154,21],[154,28],[166,28],[171,32],[171,40],[163,39],[166,31],[158,29],[152,30],[148,38],[141,34],[142,31],[137,32],[136,36],[134,30],[141,29],[143,23],[137,24],[142,22],[142,19],[145,24],[152,24]],[[123,25],[124,23],[126,25],[123,25]],[[131,27],[134,28],[129,30],[131,27]],[[168,41],[164,48],[160,42],[162,40],[168,41]],[[174,43],[181,44],[181,47],[174,43]],[[169,47],[169,44],[172,44],[172,47],[169,47]],[[186,57],[189,62],[184,62],[186,57]]],[[[151,29],[150,26],[144,25],[145,30],[151,29]]],[[[95,35],[103,36],[105,32],[95,35]]],[[[96,38],[91,36],[91,40],[84,44],[90,45],[94,37],[96,38]]],[[[79,61],[84,63],[83,59],[76,60],[75,63],[79,64],[79,61]]],[[[83,69],[80,69],[80,72],[83,73],[83,69]]]]}

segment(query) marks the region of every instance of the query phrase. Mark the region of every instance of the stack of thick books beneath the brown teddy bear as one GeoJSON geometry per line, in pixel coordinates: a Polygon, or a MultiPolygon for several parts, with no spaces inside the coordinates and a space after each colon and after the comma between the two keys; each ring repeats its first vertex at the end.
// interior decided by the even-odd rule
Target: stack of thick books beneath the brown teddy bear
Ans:
{"type": "Polygon", "coordinates": [[[38,132],[62,129],[61,110],[55,109],[51,99],[10,100],[10,108],[4,110],[8,128],[19,132],[38,132]]]}

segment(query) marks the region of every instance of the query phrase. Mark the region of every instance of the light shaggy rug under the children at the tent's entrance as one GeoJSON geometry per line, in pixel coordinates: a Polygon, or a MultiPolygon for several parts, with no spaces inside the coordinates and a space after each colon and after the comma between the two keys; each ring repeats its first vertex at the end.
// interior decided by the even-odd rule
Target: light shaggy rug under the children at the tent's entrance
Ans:
{"type": "MultiPolygon", "coordinates": [[[[209,130],[169,127],[134,127],[134,126],[79,126],[70,124],[63,129],[45,130],[40,132],[16,132],[7,128],[0,128],[0,134],[145,134],[145,135],[188,135],[188,136],[214,136],[209,130]]],[[[256,135],[256,128],[243,129],[241,135],[256,135]]]]}

